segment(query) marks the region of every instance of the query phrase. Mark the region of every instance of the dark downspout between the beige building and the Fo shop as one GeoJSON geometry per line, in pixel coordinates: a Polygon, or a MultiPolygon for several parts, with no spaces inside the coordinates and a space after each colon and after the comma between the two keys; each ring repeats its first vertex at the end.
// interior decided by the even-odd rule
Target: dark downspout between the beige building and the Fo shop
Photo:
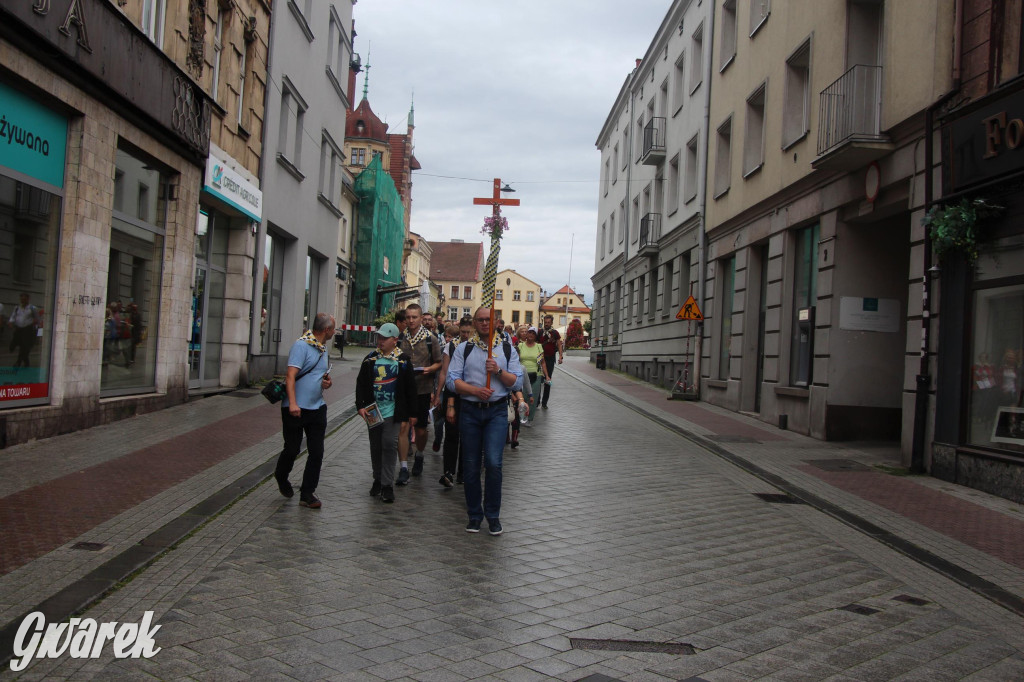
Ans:
{"type": "MultiPolygon", "coordinates": [[[[964,32],[964,0],[956,0],[953,19],[952,88],[925,110],[925,209],[931,207],[935,193],[932,179],[935,164],[933,127],[935,112],[948,102],[961,88],[961,44],[964,32]]],[[[913,402],[913,440],[910,445],[910,471],[925,473],[925,441],[928,437],[928,403],[932,385],[929,346],[932,336],[932,237],[925,229],[925,253],[921,274],[921,356],[913,402]]]]}

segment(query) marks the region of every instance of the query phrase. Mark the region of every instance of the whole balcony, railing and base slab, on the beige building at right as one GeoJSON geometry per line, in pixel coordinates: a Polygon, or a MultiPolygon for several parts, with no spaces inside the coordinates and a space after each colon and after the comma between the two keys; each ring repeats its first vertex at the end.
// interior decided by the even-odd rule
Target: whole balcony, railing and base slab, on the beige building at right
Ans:
{"type": "Polygon", "coordinates": [[[853,170],[893,151],[881,129],[882,67],[851,68],[821,91],[818,103],[814,168],[853,170]]]}

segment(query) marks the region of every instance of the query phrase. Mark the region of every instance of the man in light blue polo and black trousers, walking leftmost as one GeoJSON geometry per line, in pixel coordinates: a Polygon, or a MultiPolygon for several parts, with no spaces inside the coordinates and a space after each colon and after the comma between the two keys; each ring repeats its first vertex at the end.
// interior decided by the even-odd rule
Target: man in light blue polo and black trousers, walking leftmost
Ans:
{"type": "Polygon", "coordinates": [[[302,471],[302,485],[299,487],[299,506],[319,509],[316,498],[319,484],[319,470],[324,462],[324,436],[327,434],[327,403],[324,391],[331,388],[331,366],[328,364],[328,339],[334,336],[334,317],[326,312],[317,312],[312,329],[292,344],[288,353],[288,370],[285,374],[286,397],[282,402],[281,420],[285,436],[285,447],[278,457],[273,477],[278,489],[286,498],[295,493],[288,475],[295,465],[302,445],[302,434],[306,434],[306,466],[302,471]]]}

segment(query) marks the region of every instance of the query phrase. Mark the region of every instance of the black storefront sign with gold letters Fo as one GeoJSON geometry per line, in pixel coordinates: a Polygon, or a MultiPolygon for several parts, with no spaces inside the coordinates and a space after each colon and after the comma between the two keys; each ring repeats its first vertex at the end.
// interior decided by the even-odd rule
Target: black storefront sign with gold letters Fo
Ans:
{"type": "Polygon", "coordinates": [[[947,193],[1024,170],[1024,90],[964,114],[943,129],[942,138],[947,193]]]}

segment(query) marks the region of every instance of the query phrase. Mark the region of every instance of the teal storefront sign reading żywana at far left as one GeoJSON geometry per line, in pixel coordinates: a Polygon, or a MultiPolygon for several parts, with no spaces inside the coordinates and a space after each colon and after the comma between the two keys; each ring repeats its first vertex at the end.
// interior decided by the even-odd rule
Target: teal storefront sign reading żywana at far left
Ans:
{"type": "Polygon", "coordinates": [[[0,165],[63,186],[68,119],[0,83],[0,165]]]}

